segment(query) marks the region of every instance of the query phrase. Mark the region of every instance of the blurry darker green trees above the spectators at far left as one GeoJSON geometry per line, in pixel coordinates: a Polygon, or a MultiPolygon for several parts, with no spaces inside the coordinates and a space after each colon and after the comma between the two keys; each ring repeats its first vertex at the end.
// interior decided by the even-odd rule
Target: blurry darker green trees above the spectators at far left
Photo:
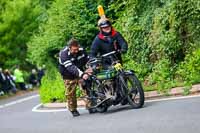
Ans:
{"type": "Polygon", "coordinates": [[[4,67],[27,64],[27,42],[37,31],[39,24],[46,20],[46,8],[41,4],[42,1],[48,2],[48,0],[1,1],[0,58],[4,67]]]}

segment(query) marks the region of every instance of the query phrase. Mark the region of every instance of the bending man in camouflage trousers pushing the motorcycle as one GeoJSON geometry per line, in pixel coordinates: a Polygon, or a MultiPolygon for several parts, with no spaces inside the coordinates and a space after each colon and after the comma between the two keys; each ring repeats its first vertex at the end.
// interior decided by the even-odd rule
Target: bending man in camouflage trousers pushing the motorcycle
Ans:
{"type": "MultiPolygon", "coordinates": [[[[91,69],[84,72],[88,59],[87,53],[75,39],[71,39],[68,42],[68,47],[65,47],[59,53],[59,69],[65,83],[68,109],[73,116],[80,115],[77,111],[76,86],[80,79],[87,80],[89,78],[88,73],[92,72],[91,69]]],[[[86,103],[87,106],[89,105],[86,103]]]]}

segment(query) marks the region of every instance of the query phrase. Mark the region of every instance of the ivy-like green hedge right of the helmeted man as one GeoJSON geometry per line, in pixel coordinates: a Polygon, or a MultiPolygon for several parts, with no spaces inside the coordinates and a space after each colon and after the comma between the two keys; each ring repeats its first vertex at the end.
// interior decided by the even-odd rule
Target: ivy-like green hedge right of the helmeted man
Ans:
{"type": "Polygon", "coordinates": [[[111,7],[117,12],[115,27],[128,41],[129,58],[134,60],[129,66],[143,73],[147,85],[172,86],[170,82],[180,78],[180,64],[184,80],[199,81],[198,52],[190,54],[200,47],[199,1],[118,0],[111,7]]]}

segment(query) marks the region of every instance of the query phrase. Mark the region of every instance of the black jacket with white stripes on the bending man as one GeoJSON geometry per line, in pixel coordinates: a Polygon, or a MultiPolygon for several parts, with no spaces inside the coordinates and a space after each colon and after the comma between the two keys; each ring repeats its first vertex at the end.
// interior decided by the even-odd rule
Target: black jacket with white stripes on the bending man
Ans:
{"type": "Polygon", "coordinates": [[[65,47],[59,53],[59,69],[63,79],[76,79],[82,76],[89,57],[83,48],[79,48],[76,57],[65,47]]]}

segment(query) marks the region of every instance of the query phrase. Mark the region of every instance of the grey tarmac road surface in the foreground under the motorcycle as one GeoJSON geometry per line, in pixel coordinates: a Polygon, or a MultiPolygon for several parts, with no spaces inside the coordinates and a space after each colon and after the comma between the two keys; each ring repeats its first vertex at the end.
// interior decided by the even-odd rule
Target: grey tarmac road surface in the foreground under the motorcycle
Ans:
{"type": "Polygon", "coordinates": [[[200,132],[200,97],[146,102],[141,109],[115,106],[103,114],[79,109],[81,116],[73,118],[65,110],[33,112],[40,100],[32,95],[0,102],[0,133],[200,132]]]}

